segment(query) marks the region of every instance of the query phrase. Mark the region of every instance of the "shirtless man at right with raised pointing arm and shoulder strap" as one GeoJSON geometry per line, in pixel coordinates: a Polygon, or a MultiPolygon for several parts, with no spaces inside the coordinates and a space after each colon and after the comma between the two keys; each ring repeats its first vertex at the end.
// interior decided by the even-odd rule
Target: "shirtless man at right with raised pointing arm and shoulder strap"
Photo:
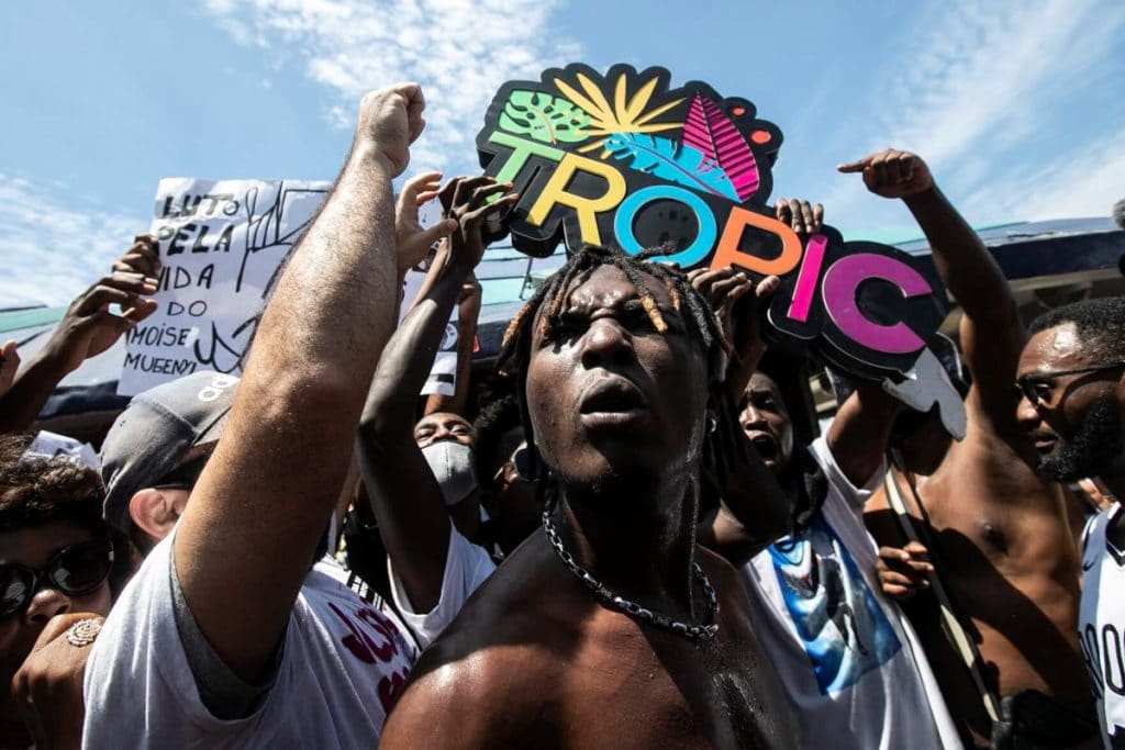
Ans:
{"type": "Polygon", "coordinates": [[[903,460],[866,508],[868,528],[886,548],[884,591],[910,597],[937,567],[978,647],[975,678],[951,645],[933,587],[910,597],[906,612],[966,742],[999,741],[1017,728],[1045,747],[1076,747],[1092,734],[1082,717],[1092,713],[1089,688],[1069,635],[1079,560],[1062,488],[1036,476],[1034,450],[1016,423],[1011,380],[1024,332],[1011,290],[919,156],[888,150],[839,169],[862,173],[871,192],[900,198],[914,214],[964,313],[961,346],[972,380],[963,440],[942,435],[934,413],[908,410],[896,421],[892,445],[903,460]],[[891,509],[886,493],[904,498],[909,518],[891,509]],[[933,543],[908,542],[903,522],[933,543]]]}

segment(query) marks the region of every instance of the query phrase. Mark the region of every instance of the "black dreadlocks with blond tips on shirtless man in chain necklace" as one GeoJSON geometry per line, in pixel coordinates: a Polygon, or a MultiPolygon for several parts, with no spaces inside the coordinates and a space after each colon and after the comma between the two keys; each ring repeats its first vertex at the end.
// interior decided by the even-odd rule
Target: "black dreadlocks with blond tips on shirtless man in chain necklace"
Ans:
{"type": "MultiPolygon", "coordinates": [[[[516,395],[520,403],[520,419],[523,424],[528,446],[531,449],[531,469],[536,477],[539,477],[539,453],[534,450],[534,433],[531,428],[531,415],[528,412],[526,381],[524,377],[528,362],[531,358],[532,326],[538,316],[540,334],[548,335],[552,327],[558,325],[569,292],[578,284],[582,284],[593,274],[595,269],[602,265],[613,265],[626,274],[626,278],[637,289],[641,306],[648,314],[652,327],[662,334],[668,329],[668,326],[656,306],[656,299],[652,297],[649,284],[645,281],[645,275],[649,275],[664,283],[672,300],[673,309],[683,316],[688,335],[699,341],[706,356],[709,388],[714,398],[719,399],[714,403],[723,405],[720,412],[727,410],[730,399],[721,388],[721,382],[724,376],[727,354],[730,349],[729,344],[723,337],[719,322],[711,313],[706,301],[692,288],[687,281],[687,275],[676,266],[649,260],[654,256],[667,254],[668,251],[664,247],[647,250],[638,255],[629,255],[613,247],[587,245],[572,255],[558,271],[551,274],[508,324],[507,331],[504,333],[503,343],[501,344],[497,367],[515,380],[516,395]],[[684,314],[684,308],[686,308],[686,314],[684,314]],[[542,310],[542,315],[540,315],[540,310],[542,310]]],[[[726,428],[728,426],[727,422],[727,419],[720,418],[719,425],[726,428]]],[[[710,450],[709,453],[711,453],[710,450]]],[[[543,484],[541,484],[541,489],[543,484]]]]}

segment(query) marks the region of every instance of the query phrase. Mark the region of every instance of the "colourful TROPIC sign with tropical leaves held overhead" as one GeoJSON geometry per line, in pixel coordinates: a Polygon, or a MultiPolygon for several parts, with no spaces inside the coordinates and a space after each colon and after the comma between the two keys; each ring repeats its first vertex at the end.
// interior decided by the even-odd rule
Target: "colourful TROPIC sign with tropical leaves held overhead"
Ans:
{"type": "Polygon", "coordinates": [[[799,237],[767,205],[777,126],[746,99],[669,81],[663,67],[602,75],[573,64],[501,87],[477,151],[486,173],[521,195],[513,245],[534,256],[560,241],[568,252],[666,246],[662,260],[685,269],[777,274],[776,333],[862,377],[909,372],[947,309],[933,271],[831,227],[799,237]]]}

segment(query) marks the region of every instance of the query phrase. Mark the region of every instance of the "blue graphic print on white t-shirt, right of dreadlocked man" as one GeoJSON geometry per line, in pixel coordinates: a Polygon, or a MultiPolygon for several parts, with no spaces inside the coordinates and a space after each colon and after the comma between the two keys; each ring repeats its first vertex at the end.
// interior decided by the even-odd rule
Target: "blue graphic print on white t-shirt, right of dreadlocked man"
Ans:
{"type": "Polygon", "coordinates": [[[822,695],[854,685],[902,648],[867,581],[821,516],[770,546],[789,615],[822,695]]]}

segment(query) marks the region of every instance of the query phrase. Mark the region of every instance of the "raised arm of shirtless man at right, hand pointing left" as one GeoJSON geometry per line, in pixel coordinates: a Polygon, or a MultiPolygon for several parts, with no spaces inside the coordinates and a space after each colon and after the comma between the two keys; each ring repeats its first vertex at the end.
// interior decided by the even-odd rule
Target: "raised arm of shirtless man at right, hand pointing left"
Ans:
{"type": "Polygon", "coordinates": [[[975,417],[970,423],[1018,434],[1011,383],[1025,334],[996,260],[916,154],[889,148],[838,169],[862,172],[868,190],[901,198],[914,214],[929,242],[938,275],[964,310],[961,349],[974,380],[965,404],[975,417]]]}

